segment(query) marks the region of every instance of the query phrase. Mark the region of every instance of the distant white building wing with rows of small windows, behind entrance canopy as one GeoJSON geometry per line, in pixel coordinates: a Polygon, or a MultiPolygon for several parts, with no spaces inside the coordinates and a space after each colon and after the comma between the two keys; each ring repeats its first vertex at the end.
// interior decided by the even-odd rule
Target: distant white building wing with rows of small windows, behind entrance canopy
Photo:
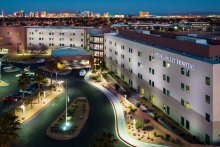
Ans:
{"type": "Polygon", "coordinates": [[[50,49],[61,47],[86,49],[87,29],[90,27],[27,27],[27,48],[44,45],[50,49]]]}

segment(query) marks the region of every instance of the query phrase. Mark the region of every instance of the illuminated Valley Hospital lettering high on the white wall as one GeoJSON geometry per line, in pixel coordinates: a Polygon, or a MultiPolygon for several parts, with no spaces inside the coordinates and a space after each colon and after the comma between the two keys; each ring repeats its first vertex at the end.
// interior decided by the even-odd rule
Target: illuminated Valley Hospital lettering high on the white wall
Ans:
{"type": "Polygon", "coordinates": [[[170,63],[178,64],[180,66],[183,66],[183,67],[191,69],[191,70],[195,70],[195,66],[193,64],[182,61],[182,60],[174,58],[174,57],[170,57],[170,56],[163,55],[163,54],[160,54],[160,53],[155,53],[154,57],[163,59],[163,60],[165,60],[167,62],[170,62],[170,63]]]}

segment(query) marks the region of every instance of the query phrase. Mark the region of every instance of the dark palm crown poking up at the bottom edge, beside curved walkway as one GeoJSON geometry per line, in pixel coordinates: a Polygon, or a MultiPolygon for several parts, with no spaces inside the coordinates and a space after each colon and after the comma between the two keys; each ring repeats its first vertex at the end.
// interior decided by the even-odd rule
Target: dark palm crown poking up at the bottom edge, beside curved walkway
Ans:
{"type": "Polygon", "coordinates": [[[114,147],[118,140],[114,138],[112,132],[103,130],[98,136],[95,137],[95,144],[92,147],[114,147]]]}

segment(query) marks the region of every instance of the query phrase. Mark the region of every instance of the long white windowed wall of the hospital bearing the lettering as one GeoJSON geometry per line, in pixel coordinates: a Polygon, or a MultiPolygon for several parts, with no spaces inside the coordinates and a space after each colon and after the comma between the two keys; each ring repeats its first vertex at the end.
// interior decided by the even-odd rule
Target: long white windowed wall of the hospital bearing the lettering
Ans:
{"type": "MultiPolygon", "coordinates": [[[[169,106],[169,116],[178,123],[181,121],[180,117],[183,116],[185,120],[190,122],[190,130],[188,131],[198,136],[202,141],[205,140],[205,134],[209,135],[211,138],[213,137],[213,141],[216,141],[214,136],[217,136],[217,134],[213,134],[212,130],[216,130],[217,128],[212,126],[212,122],[218,122],[216,126],[219,125],[220,109],[218,107],[213,109],[212,100],[214,99],[216,103],[220,101],[218,97],[220,93],[218,89],[215,89],[219,87],[220,84],[220,79],[218,78],[220,74],[219,66],[213,70],[213,65],[207,62],[162,50],[158,47],[123,39],[113,34],[105,34],[105,41],[106,64],[108,67],[112,67],[113,71],[116,69],[119,76],[121,73],[124,75],[127,74],[128,76],[125,78],[126,82],[131,79],[135,89],[143,85],[141,88],[145,89],[146,97],[149,96],[149,93],[157,95],[155,96],[155,105],[161,110],[163,110],[164,105],[169,106]],[[124,50],[121,49],[122,45],[124,45],[124,50]],[[132,49],[132,53],[129,53],[129,48],[132,49]],[[110,50],[112,50],[112,52],[110,52],[110,50]],[[115,51],[117,51],[118,55],[115,55],[115,51]],[[142,57],[138,56],[138,51],[142,52],[142,57]],[[182,66],[176,63],[170,63],[170,67],[166,68],[163,67],[164,59],[155,57],[154,62],[149,61],[149,55],[155,53],[160,53],[190,63],[195,66],[195,69],[190,69],[190,77],[187,77],[181,74],[182,66]],[[121,58],[121,54],[124,55],[124,59],[121,58]],[[112,61],[109,60],[109,58],[112,58],[112,61]],[[132,59],[131,63],[128,61],[129,58],[132,59]],[[115,64],[115,59],[118,64],[115,64]],[[138,62],[142,63],[142,68],[138,67],[138,62]],[[121,68],[122,63],[125,65],[125,69],[121,68]],[[149,73],[149,68],[154,69],[154,75],[149,73]],[[133,70],[133,74],[129,72],[125,73],[124,70],[128,71],[129,69],[133,70]],[[142,74],[142,80],[137,77],[138,73],[142,74]],[[163,74],[170,77],[169,83],[163,80],[163,74]],[[211,79],[211,85],[206,85],[206,77],[211,79]],[[217,79],[217,82],[212,82],[215,79],[217,79]],[[149,87],[149,80],[154,81],[155,87],[149,87]],[[190,86],[189,93],[181,90],[181,83],[190,86]],[[213,83],[215,88],[213,88],[213,83]],[[163,87],[170,91],[169,97],[162,93],[163,87]],[[154,91],[154,89],[158,89],[158,91],[154,91]],[[214,95],[213,89],[215,90],[214,95]],[[206,95],[211,97],[210,104],[205,101],[206,95]],[[181,99],[183,99],[185,103],[186,101],[190,103],[189,110],[181,105],[181,99]],[[215,113],[213,113],[213,110],[215,113]],[[206,113],[210,115],[211,122],[206,120],[206,113]]],[[[219,132],[219,129],[217,130],[217,132],[219,132]]]]}

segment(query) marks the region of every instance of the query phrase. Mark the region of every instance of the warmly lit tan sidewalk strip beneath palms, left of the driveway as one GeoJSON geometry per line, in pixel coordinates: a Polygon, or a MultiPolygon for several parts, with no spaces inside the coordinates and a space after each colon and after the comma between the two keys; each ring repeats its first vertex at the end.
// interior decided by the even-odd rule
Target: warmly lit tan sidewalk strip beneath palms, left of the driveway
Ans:
{"type": "Polygon", "coordinates": [[[45,106],[47,106],[52,100],[54,100],[57,96],[59,96],[64,91],[63,86],[57,87],[56,91],[52,91],[52,95],[50,95],[50,90],[46,91],[46,98],[43,98],[43,95],[40,97],[40,103],[38,103],[38,95],[33,100],[33,108],[31,108],[31,104],[25,106],[25,118],[22,119],[22,109],[16,110],[15,115],[18,116],[18,120],[21,123],[26,122],[31,119],[35,114],[41,111],[45,106]]]}

